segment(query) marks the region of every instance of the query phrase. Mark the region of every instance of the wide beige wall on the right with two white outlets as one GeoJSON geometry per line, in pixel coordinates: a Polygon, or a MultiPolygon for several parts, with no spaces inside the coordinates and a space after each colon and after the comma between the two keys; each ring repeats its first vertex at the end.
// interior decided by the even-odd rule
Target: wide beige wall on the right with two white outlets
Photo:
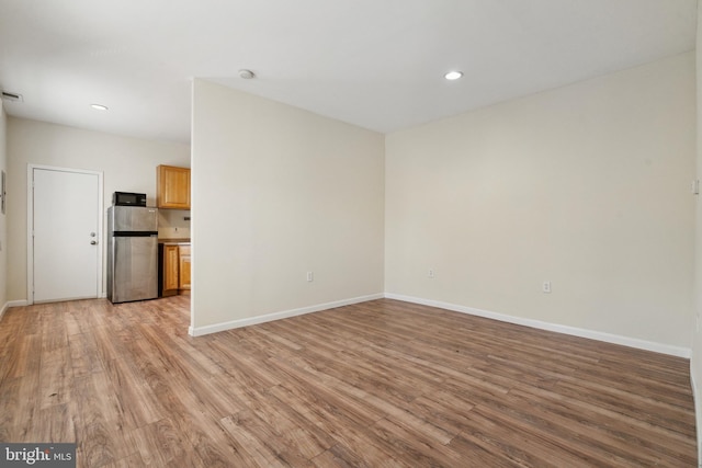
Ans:
{"type": "Polygon", "coordinates": [[[689,349],[694,89],[689,53],[388,135],[385,290],[689,349]]]}

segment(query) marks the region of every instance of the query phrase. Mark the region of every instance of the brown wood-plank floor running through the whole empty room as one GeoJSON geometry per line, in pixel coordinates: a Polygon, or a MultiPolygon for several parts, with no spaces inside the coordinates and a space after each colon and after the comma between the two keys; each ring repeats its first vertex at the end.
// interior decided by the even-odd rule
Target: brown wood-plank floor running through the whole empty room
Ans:
{"type": "Polygon", "coordinates": [[[0,441],[91,468],[697,465],[687,359],[389,299],[194,339],[189,307],[8,310],[0,441]]]}

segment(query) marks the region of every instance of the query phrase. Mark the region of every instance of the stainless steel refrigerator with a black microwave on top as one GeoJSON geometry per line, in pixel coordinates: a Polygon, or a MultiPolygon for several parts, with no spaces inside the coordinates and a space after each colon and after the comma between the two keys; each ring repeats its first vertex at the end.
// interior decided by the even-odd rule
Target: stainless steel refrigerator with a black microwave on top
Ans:
{"type": "Polygon", "coordinates": [[[107,209],[107,299],[113,304],[158,297],[158,209],[107,209]]]}

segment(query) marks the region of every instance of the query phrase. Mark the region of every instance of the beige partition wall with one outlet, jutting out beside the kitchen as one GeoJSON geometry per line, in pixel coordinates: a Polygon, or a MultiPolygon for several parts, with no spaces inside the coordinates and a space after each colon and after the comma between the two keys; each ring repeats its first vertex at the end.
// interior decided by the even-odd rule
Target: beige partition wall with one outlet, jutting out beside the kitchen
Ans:
{"type": "Polygon", "coordinates": [[[195,80],[193,328],[382,294],[383,141],[195,80]]]}

